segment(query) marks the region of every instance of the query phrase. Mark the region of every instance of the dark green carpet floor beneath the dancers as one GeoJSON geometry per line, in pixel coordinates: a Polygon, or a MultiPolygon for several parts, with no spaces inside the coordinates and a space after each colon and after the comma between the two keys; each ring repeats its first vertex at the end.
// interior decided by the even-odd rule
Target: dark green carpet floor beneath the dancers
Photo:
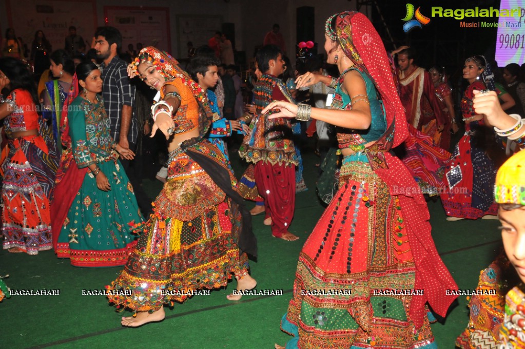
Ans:
{"type": "MultiPolygon", "coordinates": [[[[235,157],[235,156],[234,156],[235,157]]],[[[234,158],[236,173],[242,164],[234,158]]],[[[0,250],[0,275],[11,289],[60,290],[58,296],[13,296],[0,303],[0,348],[273,348],[289,336],[279,329],[280,319],[291,297],[297,258],[323,207],[315,191],[318,157],[304,154],[304,176],[309,190],[296,196],[295,219],[291,231],[296,242],[271,237],[262,225],[264,217],[254,217],[259,241],[259,257],[250,261],[258,289],[283,290],[279,296],[245,296],[239,302],[226,299],[233,288],[195,296],[173,309],[165,308],[166,319],[139,329],[120,326],[120,317],[103,296],[82,295],[82,290],[103,289],[122,268],[75,268],[69,260],[57,259],[53,251],[37,256],[0,250]]],[[[154,197],[160,183],[144,181],[154,197]]],[[[251,204],[248,204],[251,207],[251,204]]],[[[486,268],[501,248],[498,221],[463,220],[448,222],[440,202],[429,202],[432,235],[437,249],[460,289],[476,287],[479,272],[486,268]]],[[[432,325],[439,348],[453,348],[457,335],[468,322],[466,297],[459,297],[442,323],[432,325]]]]}

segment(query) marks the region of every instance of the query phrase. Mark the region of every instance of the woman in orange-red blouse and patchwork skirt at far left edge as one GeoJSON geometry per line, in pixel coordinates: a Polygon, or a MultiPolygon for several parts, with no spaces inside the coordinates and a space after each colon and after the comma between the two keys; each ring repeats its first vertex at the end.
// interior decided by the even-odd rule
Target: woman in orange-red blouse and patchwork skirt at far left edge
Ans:
{"type": "Polygon", "coordinates": [[[8,143],[2,151],[4,249],[37,255],[51,249],[49,199],[58,157],[53,133],[37,113],[33,76],[22,61],[0,59],[0,119],[8,143]]]}

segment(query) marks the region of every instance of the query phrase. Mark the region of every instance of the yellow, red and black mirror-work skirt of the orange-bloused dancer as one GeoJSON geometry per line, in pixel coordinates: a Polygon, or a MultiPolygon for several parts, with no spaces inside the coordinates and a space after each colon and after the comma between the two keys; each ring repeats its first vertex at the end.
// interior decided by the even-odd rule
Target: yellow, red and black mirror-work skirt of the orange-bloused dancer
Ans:
{"type": "MultiPolygon", "coordinates": [[[[192,148],[227,168],[224,155],[207,140],[192,148]]],[[[244,275],[248,259],[235,233],[241,218],[231,204],[187,153],[170,153],[167,182],[154,214],[141,227],[124,270],[107,287],[131,290],[132,295],[111,295],[109,301],[134,311],[155,311],[164,303],[183,302],[191,291],[224,287],[232,274],[244,275]]]]}

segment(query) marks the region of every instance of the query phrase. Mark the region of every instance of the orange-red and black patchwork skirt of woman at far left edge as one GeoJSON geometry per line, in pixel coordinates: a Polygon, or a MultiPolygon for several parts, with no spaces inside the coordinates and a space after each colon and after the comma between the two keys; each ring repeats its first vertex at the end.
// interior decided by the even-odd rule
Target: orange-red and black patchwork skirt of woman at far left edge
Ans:
{"type": "Polygon", "coordinates": [[[9,139],[3,154],[4,249],[16,247],[37,255],[53,247],[49,197],[55,184],[56,154],[40,135],[9,139]]]}

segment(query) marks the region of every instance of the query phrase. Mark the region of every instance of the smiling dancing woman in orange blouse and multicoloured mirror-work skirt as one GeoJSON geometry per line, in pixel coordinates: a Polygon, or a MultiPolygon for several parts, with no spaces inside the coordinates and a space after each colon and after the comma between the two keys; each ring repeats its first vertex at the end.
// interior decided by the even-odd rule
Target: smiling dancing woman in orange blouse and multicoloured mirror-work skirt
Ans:
{"type": "Polygon", "coordinates": [[[155,199],[154,214],[138,228],[137,248],[108,286],[109,291],[132,293],[114,292],[109,301],[137,312],[122,318],[122,325],[135,327],[164,319],[164,303],[225,286],[232,274],[237,290],[255,287],[246,253],[257,252],[235,177],[224,155],[205,139],[213,115],[203,89],[175,59],[154,47],[142,49],[128,72],[159,91],[152,134],[161,130],[170,152],[167,182],[155,199]]]}

